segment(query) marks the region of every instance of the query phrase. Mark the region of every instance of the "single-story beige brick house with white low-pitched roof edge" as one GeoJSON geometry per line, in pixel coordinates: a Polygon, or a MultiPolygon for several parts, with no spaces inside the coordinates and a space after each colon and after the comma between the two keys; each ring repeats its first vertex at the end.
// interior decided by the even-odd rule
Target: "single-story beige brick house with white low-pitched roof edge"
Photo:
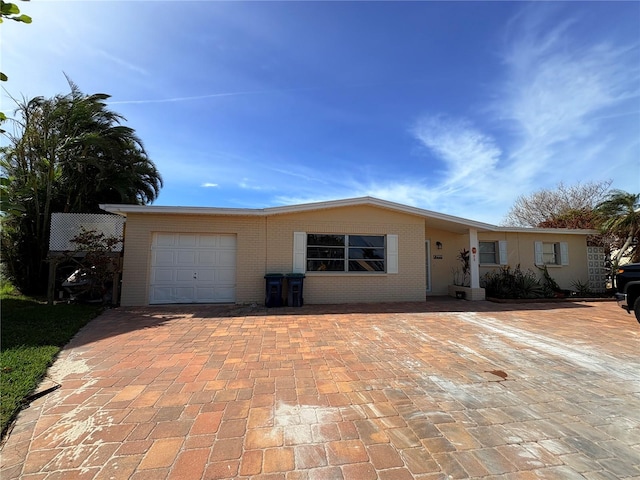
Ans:
{"type": "Polygon", "coordinates": [[[564,289],[593,280],[594,231],[499,227],[372,197],[264,209],[101,207],[126,217],[123,306],[261,303],[271,273],[304,273],[305,303],[424,301],[451,294],[463,249],[468,300],[484,299],[482,275],[505,265],[546,265],[564,289]]]}

